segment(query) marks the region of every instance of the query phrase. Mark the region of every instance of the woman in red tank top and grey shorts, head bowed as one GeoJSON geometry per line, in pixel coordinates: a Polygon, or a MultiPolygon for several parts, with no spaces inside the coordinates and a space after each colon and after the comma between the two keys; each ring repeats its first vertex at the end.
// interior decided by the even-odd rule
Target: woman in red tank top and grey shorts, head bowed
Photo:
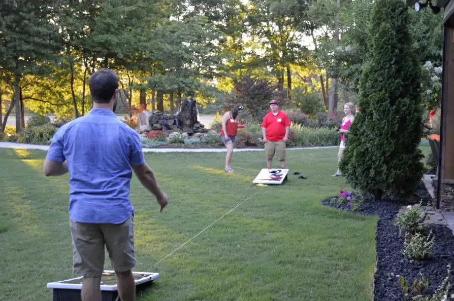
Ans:
{"type": "Polygon", "coordinates": [[[227,147],[225,156],[225,172],[234,172],[232,169],[232,153],[235,147],[235,138],[238,132],[238,114],[243,110],[241,103],[235,104],[231,111],[228,111],[222,117],[221,141],[227,147]]]}

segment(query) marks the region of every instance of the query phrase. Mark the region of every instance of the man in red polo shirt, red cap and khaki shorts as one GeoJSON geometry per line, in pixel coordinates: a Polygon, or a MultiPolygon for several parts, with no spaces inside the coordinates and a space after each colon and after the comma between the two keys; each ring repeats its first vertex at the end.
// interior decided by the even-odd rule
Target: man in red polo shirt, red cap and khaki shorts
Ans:
{"type": "Polygon", "coordinates": [[[271,111],[265,115],[262,122],[267,167],[271,168],[271,160],[276,154],[281,162],[281,168],[285,168],[285,142],[288,140],[290,120],[279,110],[279,102],[276,99],[270,101],[270,107],[271,111]]]}

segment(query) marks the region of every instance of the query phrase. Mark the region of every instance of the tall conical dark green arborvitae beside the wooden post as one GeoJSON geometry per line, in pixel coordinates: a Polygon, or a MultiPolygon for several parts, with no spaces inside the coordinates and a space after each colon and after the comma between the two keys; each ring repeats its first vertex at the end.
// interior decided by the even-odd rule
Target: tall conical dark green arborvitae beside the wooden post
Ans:
{"type": "Polygon", "coordinates": [[[360,112],[346,135],[340,162],[354,189],[408,196],[423,175],[419,60],[400,0],[374,4],[370,50],[360,86],[360,112]]]}

